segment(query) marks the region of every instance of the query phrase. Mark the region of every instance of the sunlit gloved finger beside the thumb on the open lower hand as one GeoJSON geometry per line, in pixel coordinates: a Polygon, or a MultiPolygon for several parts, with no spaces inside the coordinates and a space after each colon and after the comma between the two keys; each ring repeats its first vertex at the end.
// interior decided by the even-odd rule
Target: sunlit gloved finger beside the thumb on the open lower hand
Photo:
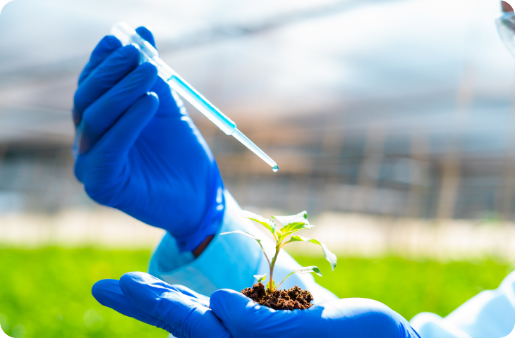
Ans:
{"type": "Polygon", "coordinates": [[[135,306],[166,322],[169,332],[190,338],[231,337],[210,308],[147,273],[126,273],[120,288],[135,306]]]}

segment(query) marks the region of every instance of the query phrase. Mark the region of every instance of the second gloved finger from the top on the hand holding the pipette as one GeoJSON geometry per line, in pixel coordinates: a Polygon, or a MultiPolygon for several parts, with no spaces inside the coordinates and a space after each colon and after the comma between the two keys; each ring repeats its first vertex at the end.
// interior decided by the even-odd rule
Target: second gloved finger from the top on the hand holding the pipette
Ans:
{"type": "Polygon", "coordinates": [[[80,84],[73,97],[73,122],[79,125],[85,109],[138,67],[140,51],[128,45],[114,51],[80,84]]]}

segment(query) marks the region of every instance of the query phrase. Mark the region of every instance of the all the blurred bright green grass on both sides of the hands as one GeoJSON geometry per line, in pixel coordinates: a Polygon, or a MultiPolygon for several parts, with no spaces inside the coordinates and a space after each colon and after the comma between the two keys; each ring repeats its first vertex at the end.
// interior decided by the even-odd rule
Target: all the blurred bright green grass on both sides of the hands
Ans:
{"type": "MultiPolygon", "coordinates": [[[[103,278],[145,271],[150,251],[99,249],[0,249],[0,326],[11,337],[152,337],[166,332],[99,305],[91,287],[103,278]]],[[[334,272],[323,259],[298,257],[318,265],[317,282],[340,297],[386,303],[410,319],[431,311],[447,315],[482,289],[493,289],[509,266],[441,264],[401,258],[368,260],[339,256],[334,272]]]]}

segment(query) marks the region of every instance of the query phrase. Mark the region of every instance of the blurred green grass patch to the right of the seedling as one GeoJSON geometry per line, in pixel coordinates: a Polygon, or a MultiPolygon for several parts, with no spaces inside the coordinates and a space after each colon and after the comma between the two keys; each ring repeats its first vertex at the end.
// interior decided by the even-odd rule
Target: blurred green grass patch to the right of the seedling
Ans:
{"type": "MultiPolygon", "coordinates": [[[[324,258],[295,257],[301,265],[317,265],[315,280],[340,298],[380,301],[410,320],[420,312],[442,317],[484,289],[496,289],[510,265],[481,262],[437,263],[403,258],[344,258],[331,271],[324,258]]],[[[314,274],[313,274],[314,275],[314,274]]]]}

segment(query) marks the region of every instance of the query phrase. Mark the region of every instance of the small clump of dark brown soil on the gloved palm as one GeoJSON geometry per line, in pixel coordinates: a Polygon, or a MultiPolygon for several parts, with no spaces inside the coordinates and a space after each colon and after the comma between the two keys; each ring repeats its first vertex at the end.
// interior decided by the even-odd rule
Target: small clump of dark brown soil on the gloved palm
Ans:
{"type": "Polygon", "coordinates": [[[313,296],[310,292],[297,286],[289,290],[277,290],[273,294],[267,294],[265,285],[257,283],[253,287],[241,290],[241,293],[256,303],[275,310],[305,310],[313,305],[311,304],[313,296]]]}

